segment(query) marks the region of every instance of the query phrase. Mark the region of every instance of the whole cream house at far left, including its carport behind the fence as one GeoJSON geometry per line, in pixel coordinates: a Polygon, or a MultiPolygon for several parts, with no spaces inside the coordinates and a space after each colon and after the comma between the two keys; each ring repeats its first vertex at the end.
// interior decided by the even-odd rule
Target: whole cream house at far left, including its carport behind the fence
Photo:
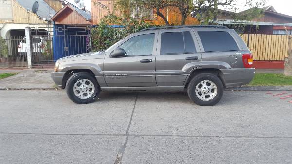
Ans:
{"type": "MultiPolygon", "coordinates": [[[[34,44],[33,60],[50,54],[50,39],[53,25],[50,18],[61,9],[63,0],[0,0],[0,39],[7,47],[7,53],[0,54],[0,67],[26,67],[25,28],[31,27],[34,44]],[[32,12],[38,2],[37,13],[32,12]],[[46,41],[48,39],[49,41],[46,41]]],[[[45,57],[49,59],[49,57],[45,57]]],[[[38,61],[37,61],[38,62],[38,61]]]]}

